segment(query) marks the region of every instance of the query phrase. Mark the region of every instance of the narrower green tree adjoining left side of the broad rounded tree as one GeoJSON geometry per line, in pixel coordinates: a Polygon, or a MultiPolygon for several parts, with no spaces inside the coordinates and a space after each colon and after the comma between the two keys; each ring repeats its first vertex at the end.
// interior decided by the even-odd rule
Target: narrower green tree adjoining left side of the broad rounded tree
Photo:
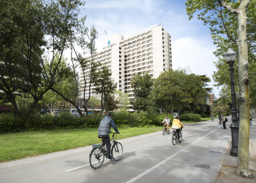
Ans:
{"type": "Polygon", "coordinates": [[[131,79],[131,87],[133,88],[134,98],[131,99],[131,105],[134,110],[148,110],[152,106],[150,94],[154,82],[149,74],[141,76],[138,74],[131,79]]]}

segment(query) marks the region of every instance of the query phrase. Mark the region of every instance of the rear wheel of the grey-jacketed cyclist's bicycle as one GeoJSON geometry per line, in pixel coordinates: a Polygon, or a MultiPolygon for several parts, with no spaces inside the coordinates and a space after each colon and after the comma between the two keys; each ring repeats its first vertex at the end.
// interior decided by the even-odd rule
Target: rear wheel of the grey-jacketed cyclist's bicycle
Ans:
{"type": "Polygon", "coordinates": [[[94,169],[98,169],[102,166],[105,159],[104,150],[101,147],[96,147],[91,151],[90,154],[90,165],[94,169]]]}

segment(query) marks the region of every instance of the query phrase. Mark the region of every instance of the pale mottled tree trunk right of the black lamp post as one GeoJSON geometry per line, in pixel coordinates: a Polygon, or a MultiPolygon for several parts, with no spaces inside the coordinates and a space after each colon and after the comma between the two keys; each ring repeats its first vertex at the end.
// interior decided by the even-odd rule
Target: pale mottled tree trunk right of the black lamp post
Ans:
{"type": "Polygon", "coordinates": [[[237,174],[251,177],[249,166],[249,137],[250,137],[250,106],[249,106],[249,86],[248,86],[248,48],[246,35],[246,9],[250,0],[241,1],[237,18],[239,30],[237,31],[238,40],[238,72],[240,85],[240,122],[239,122],[239,143],[237,174]]]}

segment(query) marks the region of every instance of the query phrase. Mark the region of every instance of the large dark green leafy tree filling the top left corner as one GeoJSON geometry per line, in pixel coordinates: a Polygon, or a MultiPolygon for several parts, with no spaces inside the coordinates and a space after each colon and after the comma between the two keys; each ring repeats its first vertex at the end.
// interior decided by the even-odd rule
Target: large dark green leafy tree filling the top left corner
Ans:
{"type": "Polygon", "coordinates": [[[0,88],[19,109],[15,95],[17,86],[29,89],[33,110],[52,85],[56,70],[67,46],[68,35],[74,34],[79,0],[59,1],[2,1],[0,20],[0,88]],[[51,53],[50,69],[45,70],[44,53],[51,53]],[[54,64],[55,56],[59,60],[54,64]],[[19,78],[19,79],[17,79],[19,78]]]}

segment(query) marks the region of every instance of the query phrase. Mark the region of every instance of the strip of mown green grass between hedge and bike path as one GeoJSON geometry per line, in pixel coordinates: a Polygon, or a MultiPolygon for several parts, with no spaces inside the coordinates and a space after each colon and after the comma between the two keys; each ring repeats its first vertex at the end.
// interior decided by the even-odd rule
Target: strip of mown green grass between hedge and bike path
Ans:
{"type": "MultiPolygon", "coordinates": [[[[119,128],[118,139],[162,130],[152,128],[119,128]]],[[[113,130],[112,130],[113,131],[113,130]]],[[[42,155],[100,143],[98,128],[20,132],[0,135],[0,162],[42,155]]]]}

